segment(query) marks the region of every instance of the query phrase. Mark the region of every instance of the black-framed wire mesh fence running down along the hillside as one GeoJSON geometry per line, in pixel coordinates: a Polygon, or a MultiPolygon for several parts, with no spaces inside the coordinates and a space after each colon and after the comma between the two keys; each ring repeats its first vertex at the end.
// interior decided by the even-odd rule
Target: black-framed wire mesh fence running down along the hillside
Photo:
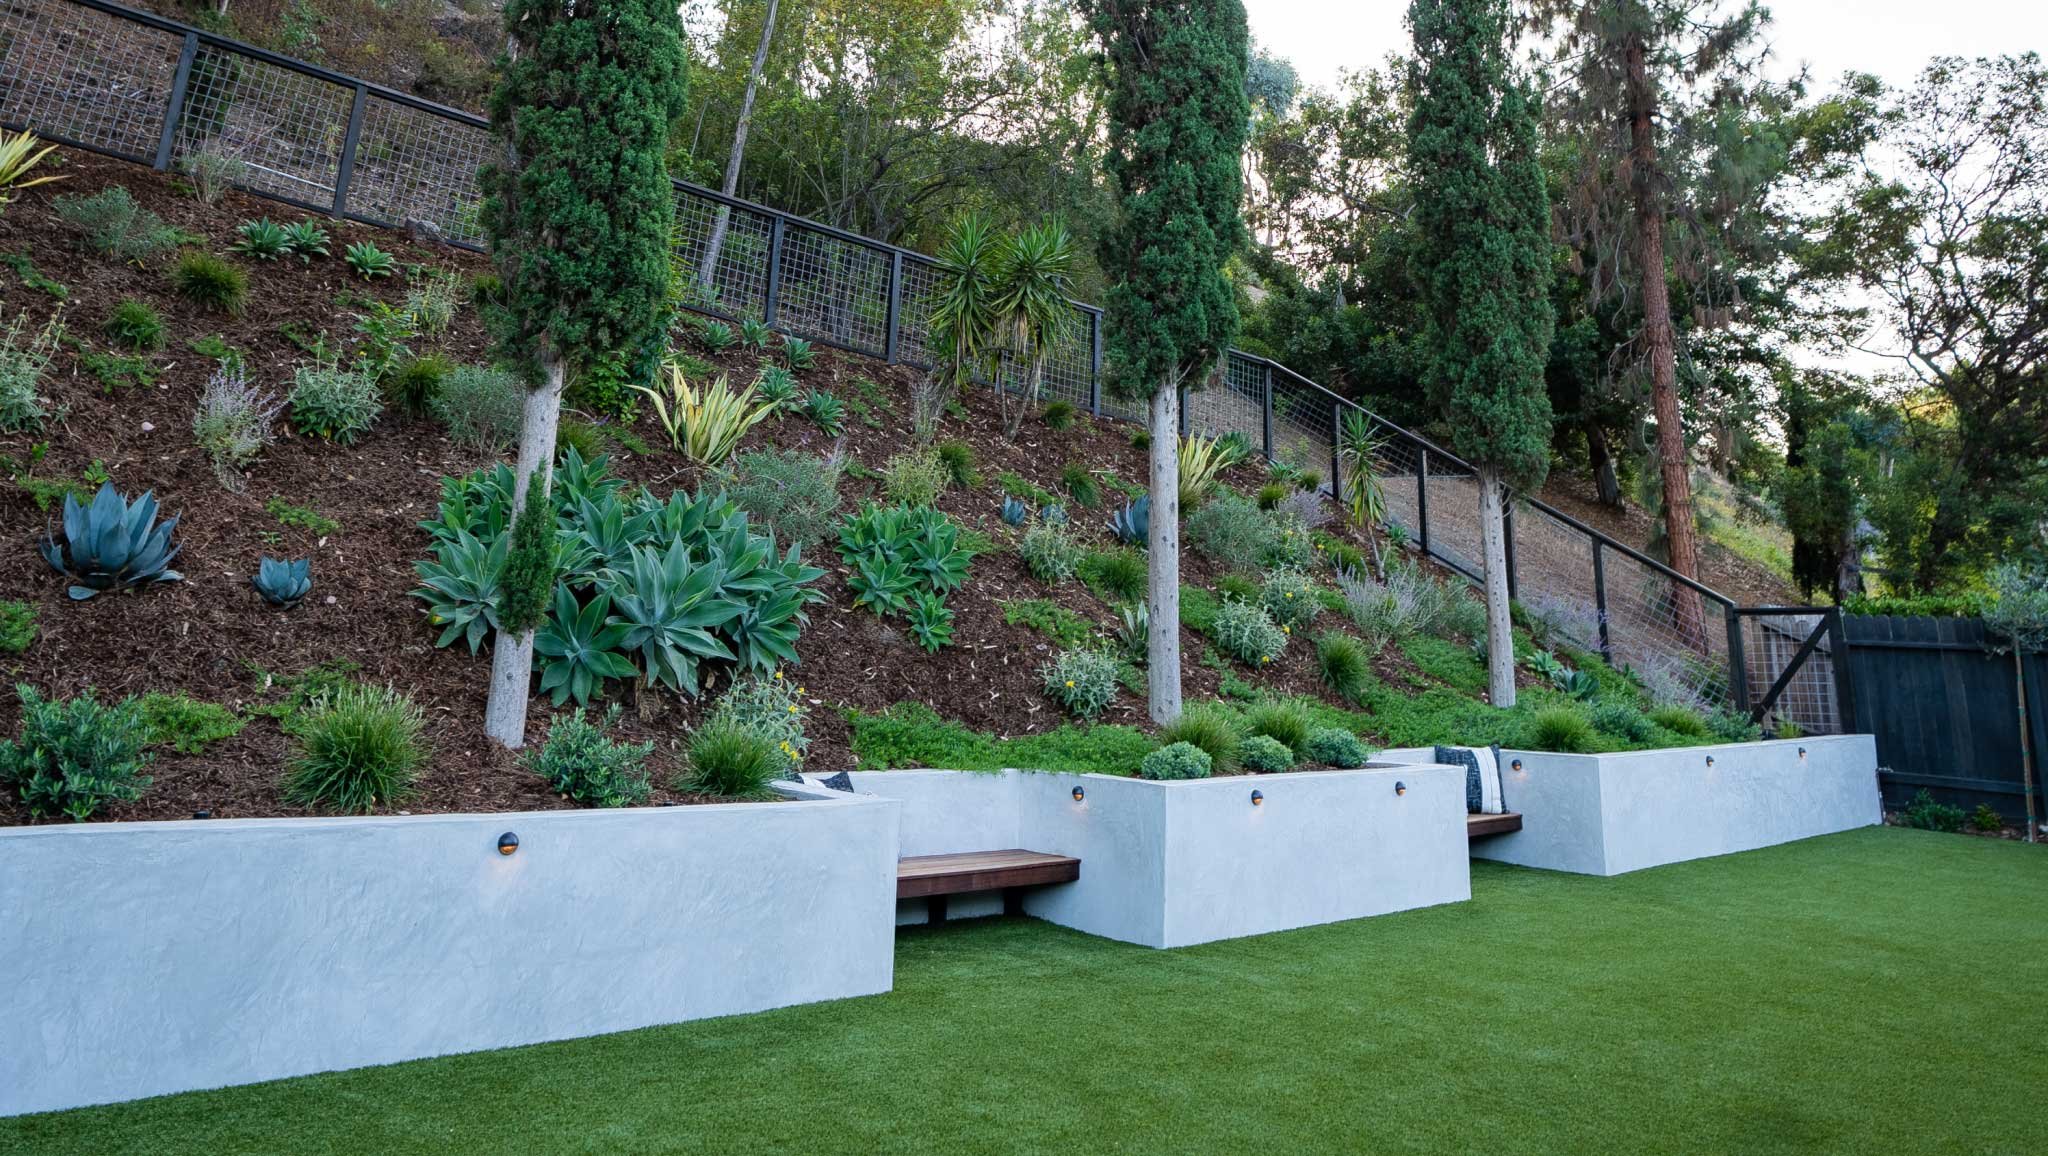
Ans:
{"type": "MultiPolygon", "coordinates": [[[[160,170],[215,152],[240,162],[250,193],[483,244],[477,170],[492,133],[481,117],[106,0],[0,0],[0,123],[160,170]]],[[[700,314],[891,363],[930,361],[926,318],[942,279],[924,254],[688,182],[676,182],[674,244],[700,314]]],[[[1075,309],[1079,324],[1047,359],[1047,398],[1141,418],[1102,391],[1102,312],[1075,309]]],[[[1477,476],[1432,441],[1239,350],[1182,412],[1190,432],[1239,432],[1272,461],[1325,473],[1331,492],[1343,478],[1343,416],[1366,414],[1386,435],[1374,469],[1393,523],[1425,555],[1479,578],[1477,476]]],[[[1577,646],[1665,697],[1751,705],[1735,601],[1534,498],[1511,504],[1507,541],[1509,588],[1577,646]]]]}

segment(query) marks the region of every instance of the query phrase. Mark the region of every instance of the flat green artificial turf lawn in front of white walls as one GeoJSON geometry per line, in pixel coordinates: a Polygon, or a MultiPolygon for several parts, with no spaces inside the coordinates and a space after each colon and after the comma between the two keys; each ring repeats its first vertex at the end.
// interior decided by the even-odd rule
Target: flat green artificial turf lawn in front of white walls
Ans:
{"type": "Polygon", "coordinates": [[[2040,1152],[2044,892],[2048,851],[1878,828],[1618,879],[1475,863],[1468,904],[1182,951],[956,922],[899,937],[889,996],[0,1150],[2040,1152]]]}

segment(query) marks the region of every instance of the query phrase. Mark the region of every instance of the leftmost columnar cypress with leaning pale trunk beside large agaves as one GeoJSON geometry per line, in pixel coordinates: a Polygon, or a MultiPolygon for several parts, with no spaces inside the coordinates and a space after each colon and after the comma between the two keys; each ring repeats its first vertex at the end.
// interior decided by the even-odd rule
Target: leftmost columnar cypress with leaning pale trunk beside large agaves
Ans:
{"type": "MultiPolygon", "coordinates": [[[[528,385],[512,492],[520,541],[528,488],[549,488],[567,383],[612,353],[647,371],[659,357],[676,213],[662,154],[682,115],[688,57],[670,0],[508,0],[504,23],[489,105],[504,156],[481,180],[504,279],[498,355],[528,385]]],[[[547,566],[508,570],[553,584],[547,566]]],[[[532,594],[508,601],[535,605],[532,594]]],[[[512,748],[526,740],[532,676],[532,623],[518,625],[492,648],[483,715],[485,734],[512,748]]]]}

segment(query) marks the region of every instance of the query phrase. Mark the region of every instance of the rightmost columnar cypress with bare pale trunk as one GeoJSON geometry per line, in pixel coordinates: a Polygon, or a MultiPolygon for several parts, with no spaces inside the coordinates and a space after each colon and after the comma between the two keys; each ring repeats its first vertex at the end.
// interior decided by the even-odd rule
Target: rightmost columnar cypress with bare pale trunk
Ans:
{"type": "Polygon", "coordinates": [[[1411,273],[1423,299],[1427,389],[1450,447],[1479,469],[1493,705],[1516,703],[1507,617],[1507,486],[1550,467],[1550,207],[1528,90],[1507,64],[1503,0],[1415,0],[1411,273]]]}

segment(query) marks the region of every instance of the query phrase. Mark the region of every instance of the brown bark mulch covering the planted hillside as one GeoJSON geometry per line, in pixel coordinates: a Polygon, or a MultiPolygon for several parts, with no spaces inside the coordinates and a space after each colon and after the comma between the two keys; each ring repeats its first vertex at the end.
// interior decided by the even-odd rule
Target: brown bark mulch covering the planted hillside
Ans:
{"type": "MultiPolygon", "coordinates": [[[[166,584],[135,596],[100,596],[90,603],[66,598],[66,582],[51,574],[35,551],[35,541],[53,521],[53,512],[37,510],[16,488],[0,490],[0,596],[27,598],[39,607],[39,637],[23,656],[0,662],[8,683],[25,680],[43,691],[72,695],[96,687],[102,695],[143,691],[184,691],[193,697],[221,701],[233,707],[274,701],[279,691],[266,674],[293,674],[322,662],[350,662],[367,680],[389,680],[426,707],[434,760],[422,775],[420,793],[410,812],[485,812],[537,810],[565,806],[549,795],[539,779],[522,773],[516,760],[492,748],[481,738],[487,656],[471,658],[461,646],[436,650],[436,631],[424,621],[420,603],[408,596],[416,586],[412,564],[426,553],[426,533],[418,521],[434,512],[438,482],[487,465],[489,459],[451,445],[440,428],[426,420],[387,414],[377,428],[354,447],[336,447],[317,439],[285,437],[250,476],[242,494],[229,494],[215,482],[205,457],[193,447],[190,418],[201,387],[211,373],[209,359],[186,348],[188,338],[221,334],[248,353],[250,377],[268,389],[291,385],[291,371],[305,361],[281,332],[283,324],[328,328],[344,338],[352,326],[348,307],[338,295],[375,295],[387,301],[403,297],[403,285],[365,285],[338,260],[342,246],[375,238],[393,250],[401,262],[481,271],[487,262],[477,254],[444,246],[412,244],[403,236],[348,223],[330,223],[336,258],[299,262],[256,262],[233,258],[250,273],[250,307],[242,318],[205,314],[168,291],[162,269],[129,269],[84,252],[55,219],[49,201],[59,193],[90,193],[106,184],[127,184],[141,203],[166,221],[203,234],[209,248],[225,252],[233,225],[248,217],[270,215],[297,219],[299,213],[252,197],[229,195],[219,207],[203,207],[174,191],[172,182],[139,166],[109,162],[86,154],[68,154],[70,180],[35,189],[0,215],[0,252],[31,252],[37,266],[70,287],[63,305],[70,332],[92,346],[104,346],[98,324],[123,297],[150,301],[170,326],[166,350],[152,357],[162,375],[152,387],[127,387],[104,394],[100,383],[78,371],[76,350],[59,355],[53,383],[47,389],[63,418],[43,435],[0,437],[0,453],[27,461],[31,447],[47,441],[47,455],[35,473],[39,478],[78,478],[92,461],[100,461],[117,488],[137,494],[154,488],[168,512],[180,514],[178,541],[184,547],[178,568],[182,584],[166,584]],[[264,510],[272,496],[299,506],[311,506],[336,519],[340,531],[313,535],[279,525],[264,510]],[[311,555],[313,594],[297,611],[279,613],[264,607],[250,590],[248,576],[260,553],[311,555]]],[[[0,299],[6,312],[29,309],[41,322],[53,301],[20,285],[12,273],[0,273],[0,299]]],[[[465,309],[453,332],[432,342],[457,359],[475,361],[485,355],[487,340],[471,309],[465,309]]],[[[424,353],[428,342],[416,342],[424,353]]],[[[700,348],[692,350],[705,357],[700,348]]],[[[721,369],[731,369],[735,381],[752,379],[756,355],[709,357],[721,369]]],[[[815,369],[799,375],[805,385],[823,385],[850,404],[862,398],[858,379],[874,381],[866,391],[874,400],[872,416],[879,428],[848,416],[844,451],[854,461],[879,469],[893,453],[911,445],[907,432],[907,385],[913,371],[868,359],[819,350],[815,369]]],[[[852,406],[850,406],[852,408],[852,406]]],[[[1124,480],[1145,478],[1145,455],[1130,447],[1130,426],[1079,418],[1067,430],[1051,430],[1038,422],[1026,426],[1018,443],[1001,437],[993,398],[967,398],[967,418],[948,420],[942,437],[969,441],[981,457],[987,480],[977,490],[954,490],[940,506],[963,525],[979,527],[999,543],[1016,533],[1001,525],[999,492],[993,478],[1016,471],[1047,490],[1057,490],[1059,469],[1079,461],[1094,469],[1110,469],[1124,480]]],[[[664,445],[651,416],[643,416],[639,437],[664,445]]],[[[831,449],[829,441],[803,418],[784,418],[756,428],[745,447],[756,445],[831,449]]],[[[694,488],[700,478],[674,453],[651,457],[614,453],[618,473],[653,486],[657,492],[694,488]]],[[[1251,467],[1237,478],[1253,482],[1251,467]]],[[[848,478],[846,506],[854,508],[874,484],[848,478]]],[[[1118,500],[1106,488],[1106,504],[1118,500]]],[[[1110,543],[1106,510],[1075,508],[1075,523],[1102,543],[1110,543]]],[[[854,611],[838,555],[829,549],[815,558],[831,568],[819,582],[827,601],[811,609],[811,625],[799,652],[801,664],[791,674],[815,703],[811,713],[811,767],[831,771],[852,765],[848,726],[836,707],[881,711],[903,701],[922,701],[946,717],[977,730],[997,734],[1040,732],[1069,721],[1038,693],[1036,668],[1053,648],[1044,635],[1001,621],[1006,598],[1051,598],[1098,625],[1112,621],[1110,609],[1079,582],[1049,590],[1030,578],[1022,560],[1001,549],[975,560],[969,586],[948,605],[954,609],[954,646],[924,654],[901,629],[901,623],[881,621],[866,611],[854,611]]],[[[1184,553],[1184,580],[1212,586],[1214,566],[1184,553]]],[[[1323,623],[1333,623],[1325,615],[1323,623]]],[[[1319,623],[1319,625],[1323,625],[1319,623]]],[[[1214,695],[1221,672],[1202,666],[1204,642],[1184,631],[1184,687],[1190,699],[1214,695]]],[[[1407,685],[1413,666],[1389,650],[1380,660],[1382,676],[1407,685]]],[[[1239,668],[1262,687],[1282,693],[1319,693],[1313,646],[1307,639],[1264,672],[1239,668]]],[[[700,717],[702,703],[678,703],[659,697],[635,703],[631,689],[612,687],[612,699],[627,705],[623,732],[629,738],[655,740],[657,781],[676,767],[682,736],[700,717]],[[645,707],[645,713],[643,713],[645,707]]],[[[545,732],[555,707],[535,697],[528,715],[528,736],[545,732]]],[[[12,734],[18,719],[14,695],[0,695],[0,734],[12,734]]],[[[1120,693],[1104,721],[1143,724],[1145,703],[1120,693]]],[[[154,787],[141,801],[113,808],[113,820],[186,818],[207,810],[217,818],[301,814],[279,797],[279,769],[289,756],[289,742],[268,717],[254,717],[233,740],[221,742],[201,756],[164,752],[154,765],[154,787]]],[[[688,801],[682,795],[657,793],[655,801],[688,801]]],[[[0,822],[27,822],[12,801],[0,801],[0,822]]]]}

